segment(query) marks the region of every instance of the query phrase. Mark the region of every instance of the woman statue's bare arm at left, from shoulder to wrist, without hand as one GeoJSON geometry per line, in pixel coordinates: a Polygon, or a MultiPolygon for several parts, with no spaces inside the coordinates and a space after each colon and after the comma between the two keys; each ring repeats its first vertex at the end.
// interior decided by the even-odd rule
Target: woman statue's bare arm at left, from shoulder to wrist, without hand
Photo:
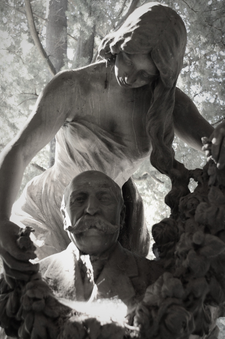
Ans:
{"type": "Polygon", "coordinates": [[[61,73],[45,87],[24,127],[1,153],[0,218],[10,217],[26,166],[59,131],[70,111],[70,101],[70,82],[61,73]]]}

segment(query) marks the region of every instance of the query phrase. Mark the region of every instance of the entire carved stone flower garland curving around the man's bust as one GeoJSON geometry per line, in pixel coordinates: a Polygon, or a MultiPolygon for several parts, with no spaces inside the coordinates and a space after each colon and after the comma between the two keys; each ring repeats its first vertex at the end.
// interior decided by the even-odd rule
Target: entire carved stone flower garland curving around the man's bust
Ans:
{"type": "MultiPolygon", "coordinates": [[[[210,156],[210,142],[203,138],[210,156]]],[[[177,201],[179,209],[155,224],[153,251],[165,273],[147,288],[130,315],[132,326],[82,314],[61,304],[41,275],[0,280],[0,325],[23,339],[216,339],[225,303],[225,171],[209,159],[189,171],[198,185],[177,201]]],[[[29,248],[31,228],[21,229],[29,248]]]]}

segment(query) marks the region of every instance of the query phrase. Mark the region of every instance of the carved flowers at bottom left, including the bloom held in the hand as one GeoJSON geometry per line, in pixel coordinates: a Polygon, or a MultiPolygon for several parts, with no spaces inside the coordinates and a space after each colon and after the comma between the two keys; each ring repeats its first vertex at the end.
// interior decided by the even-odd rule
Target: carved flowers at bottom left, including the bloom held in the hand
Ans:
{"type": "MultiPolygon", "coordinates": [[[[21,229],[17,244],[23,250],[34,250],[29,238],[32,229],[21,229]]],[[[56,339],[59,335],[58,318],[71,311],[53,296],[41,274],[33,274],[28,282],[0,279],[0,326],[7,335],[23,339],[56,339]]]]}

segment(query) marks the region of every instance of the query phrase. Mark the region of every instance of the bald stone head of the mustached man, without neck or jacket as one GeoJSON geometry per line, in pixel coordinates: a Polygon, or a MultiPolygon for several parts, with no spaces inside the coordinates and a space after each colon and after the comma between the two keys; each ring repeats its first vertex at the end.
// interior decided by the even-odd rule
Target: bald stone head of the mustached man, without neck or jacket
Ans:
{"type": "Polygon", "coordinates": [[[65,188],[61,213],[72,242],[99,255],[116,243],[125,217],[120,187],[106,174],[87,171],[65,188]]]}

